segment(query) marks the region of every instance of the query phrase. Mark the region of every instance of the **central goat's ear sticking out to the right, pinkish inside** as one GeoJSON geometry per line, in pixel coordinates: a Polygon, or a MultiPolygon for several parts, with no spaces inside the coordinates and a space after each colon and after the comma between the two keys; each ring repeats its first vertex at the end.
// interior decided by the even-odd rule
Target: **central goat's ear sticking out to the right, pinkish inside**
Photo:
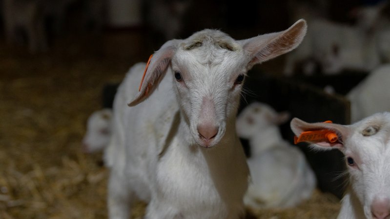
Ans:
{"type": "Polygon", "coordinates": [[[240,40],[249,57],[249,69],[295,49],[302,42],[306,31],[306,21],[300,19],[285,31],[240,40]]]}

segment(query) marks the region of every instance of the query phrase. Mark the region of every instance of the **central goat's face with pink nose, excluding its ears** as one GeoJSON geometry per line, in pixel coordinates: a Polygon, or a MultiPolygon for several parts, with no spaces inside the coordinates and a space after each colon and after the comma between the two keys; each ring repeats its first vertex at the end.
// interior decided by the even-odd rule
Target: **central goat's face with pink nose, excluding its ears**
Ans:
{"type": "MultiPolygon", "coordinates": [[[[204,32],[193,37],[211,36],[204,32]]],[[[231,125],[229,119],[237,112],[247,63],[242,48],[232,39],[198,40],[183,43],[178,49],[171,60],[172,73],[194,140],[200,146],[212,147],[220,142],[226,123],[231,125]]]]}

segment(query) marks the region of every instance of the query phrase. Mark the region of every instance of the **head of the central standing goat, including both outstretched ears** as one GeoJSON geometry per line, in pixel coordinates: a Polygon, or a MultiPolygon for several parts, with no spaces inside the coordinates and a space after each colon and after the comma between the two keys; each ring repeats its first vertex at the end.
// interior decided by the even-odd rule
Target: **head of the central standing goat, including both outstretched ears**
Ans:
{"type": "Polygon", "coordinates": [[[305,20],[285,31],[234,40],[217,30],[204,30],[184,40],[170,40],[150,61],[138,96],[144,101],[166,73],[173,74],[174,90],[195,142],[216,146],[231,130],[235,137],[235,114],[246,72],[296,48],[306,34],[305,20]]]}

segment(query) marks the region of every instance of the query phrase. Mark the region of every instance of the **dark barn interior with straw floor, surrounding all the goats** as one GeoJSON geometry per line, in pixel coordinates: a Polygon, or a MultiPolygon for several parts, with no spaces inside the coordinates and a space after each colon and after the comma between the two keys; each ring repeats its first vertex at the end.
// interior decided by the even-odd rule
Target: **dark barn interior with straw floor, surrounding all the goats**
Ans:
{"type": "MultiPolygon", "coordinates": [[[[235,39],[281,31],[294,22],[291,2],[314,4],[328,19],[353,24],[348,16],[353,8],[376,3],[150,1],[168,5],[171,16],[180,20],[177,31],[166,33],[156,27],[156,19],[162,18],[153,18],[150,2],[101,0],[101,10],[94,15],[89,0],[56,0],[63,3],[62,13],[44,14],[41,22],[47,47],[32,48],[31,34],[23,26],[14,30],[14,37],[7,37],[5,20],[10,9],[6,1],[0,0],[0,219],[107,218],[108,170],[102,152],[82,150],[86,120],[93,111],[110,105],[107,102],[115,92],[107,91],[107,85],[120,83],[130,66],[145,62],[167,37],[186,38],[205,28],[220,29],[235,39]],[[139,15],[131,14],[127,23],[115,23],[120,11],[114,10],[118,8],[114,4],[121,2],[126,2],[129,14],[137,10],[139,15]],[[175,8],[182,3],[184,12],[175,8]],[[322,8],[324,5],[327,8],[322,8]]],[[[14,17],[23,17],[17,12],[14,17]]],[[[166,22],[169,26],[173,21],[166,22]]],[[[284,62],[282,55],[248,73],[246,89],[250,92],[241,108],[262,101],[308,122],[350,123],[345,94],[367,73],[287,78],[282,74],[284,62]],[[328,84],[336,93],[323,91],[328,84]]],[[[281,131],[285,139],[293,141],[289,123],[282,125],[281,131]]],[[[304,143],[298,147],[316,172],[318,189],[297,207],[248,208],[246,218],[336,218],[348,181],[346,175],[339,177],[345,171],[343,155],[339,151],[314,152],[304,143]]],[[[132,217],[142,218],[144,207],[145,203],[139,203],[132,217]]]]}

